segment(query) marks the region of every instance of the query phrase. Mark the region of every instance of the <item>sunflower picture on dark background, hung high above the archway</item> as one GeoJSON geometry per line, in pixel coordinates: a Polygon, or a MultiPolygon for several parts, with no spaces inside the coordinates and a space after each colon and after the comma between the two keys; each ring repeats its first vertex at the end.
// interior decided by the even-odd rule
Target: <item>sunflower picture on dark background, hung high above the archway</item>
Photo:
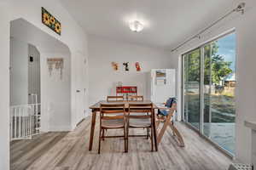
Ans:
{"type": "Polygon", "coordinates": [[[44,7],[42,7],[42,22],[61,36],[61,22],[55,19],[52,14],[49,14],[44,7]]]}

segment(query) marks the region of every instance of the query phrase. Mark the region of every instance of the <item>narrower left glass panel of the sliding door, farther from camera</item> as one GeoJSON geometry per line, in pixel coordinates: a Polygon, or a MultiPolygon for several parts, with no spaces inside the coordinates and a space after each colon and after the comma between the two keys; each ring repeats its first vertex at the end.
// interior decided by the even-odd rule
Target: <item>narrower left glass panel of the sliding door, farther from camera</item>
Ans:
{"type": "Polygon", "coordinates": [[[183,55],[183,104],[186,122],[200,129],[201,50],[183,55]]]}

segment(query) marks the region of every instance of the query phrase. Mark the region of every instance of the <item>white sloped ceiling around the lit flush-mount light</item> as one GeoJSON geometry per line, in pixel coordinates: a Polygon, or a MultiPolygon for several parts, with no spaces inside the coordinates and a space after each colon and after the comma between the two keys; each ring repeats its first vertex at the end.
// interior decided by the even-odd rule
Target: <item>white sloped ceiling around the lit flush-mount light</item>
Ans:
{"type": "Polygon", "coordinates": [[[61,0],[90,35],[157,48],[174,48],[235,8],[238,0],[61,0]],[[144,24],[129,30],[131,20],[144,24]]]}

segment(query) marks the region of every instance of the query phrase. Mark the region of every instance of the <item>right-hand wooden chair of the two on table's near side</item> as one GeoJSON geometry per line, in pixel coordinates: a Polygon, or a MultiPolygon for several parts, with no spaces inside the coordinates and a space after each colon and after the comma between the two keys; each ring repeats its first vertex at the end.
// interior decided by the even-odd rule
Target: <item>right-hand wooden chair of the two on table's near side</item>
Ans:
{"type": "Polygon", "coordinates": [[[127,135],[127,150],[129,137],[147,137],[146,135],[129,135],[130,128],[147,128],[151,129],[151,150],[154,150],[154,118],[153,118],[153,104],[129,104],[128,113],[126,115],[126,135],[127,135]]]}

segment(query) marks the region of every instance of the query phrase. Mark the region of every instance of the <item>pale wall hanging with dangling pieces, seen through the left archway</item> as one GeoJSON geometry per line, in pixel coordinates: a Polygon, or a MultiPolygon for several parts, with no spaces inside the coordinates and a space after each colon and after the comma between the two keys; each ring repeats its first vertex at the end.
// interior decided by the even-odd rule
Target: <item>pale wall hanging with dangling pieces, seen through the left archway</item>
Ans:
{"type": "Polygon", "coordinates": [[[52,71],[55,70],[61,71],[61,79],[62,79],[62,70],[64,68],[64,59],[62,58],[51,58],[47,59],[48,69],[49,69],[49,76],[52,75],[52,71]]]}

